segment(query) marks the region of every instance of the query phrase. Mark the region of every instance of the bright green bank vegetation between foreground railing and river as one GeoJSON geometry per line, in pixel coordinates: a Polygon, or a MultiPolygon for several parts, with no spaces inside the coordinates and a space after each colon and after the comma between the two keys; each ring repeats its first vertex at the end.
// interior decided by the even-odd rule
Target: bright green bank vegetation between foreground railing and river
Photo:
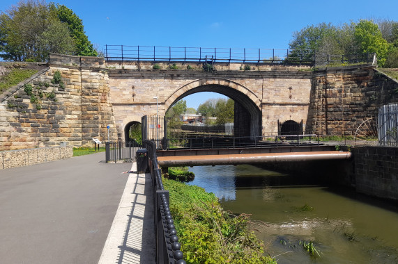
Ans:
{"type": "Polygon", "coordinates": [[[270,263],[263,242],[248,229],[249,215],[232,215],[213,193],[164,179],[170,193],[170,211],[187,263],[270,263]]]}

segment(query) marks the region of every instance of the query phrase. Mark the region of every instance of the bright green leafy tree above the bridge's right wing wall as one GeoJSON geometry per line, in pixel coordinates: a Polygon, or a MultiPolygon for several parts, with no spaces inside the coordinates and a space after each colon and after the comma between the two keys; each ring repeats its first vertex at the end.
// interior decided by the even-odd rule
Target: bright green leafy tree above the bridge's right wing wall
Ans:
{"type": "Polygon", "coordinates": [[[355,26],[354,38],[360,53],[376,53],[378,65],[384,65],[390,45],[376,24],[361,19],[355,26]]]}

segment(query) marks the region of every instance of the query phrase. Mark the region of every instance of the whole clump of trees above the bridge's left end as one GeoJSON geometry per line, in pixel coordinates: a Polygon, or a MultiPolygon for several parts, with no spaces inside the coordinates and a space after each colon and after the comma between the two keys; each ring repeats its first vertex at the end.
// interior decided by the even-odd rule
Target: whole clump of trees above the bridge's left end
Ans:
{"type": "Polygon", "coordinates": [[[0,14],[0,56],[4,60],[44,61],[49,52],[96,56],[82,20],[45,1],[20,1],[0,14]]]}

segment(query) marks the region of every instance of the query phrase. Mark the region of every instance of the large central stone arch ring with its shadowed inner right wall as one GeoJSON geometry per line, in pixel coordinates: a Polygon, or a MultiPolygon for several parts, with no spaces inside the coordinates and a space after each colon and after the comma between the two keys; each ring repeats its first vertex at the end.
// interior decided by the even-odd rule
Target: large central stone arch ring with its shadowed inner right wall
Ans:
{"type": "Polygon", "coordinates": [[[180,99],[199,92],[217,92],[234,100],[234,136],[255,140],[261,135],[259,99],[250,90],[232,81],[202,79],[188,83],[171,94],[165,101],[165,108],[169,110],[180,99]]]}

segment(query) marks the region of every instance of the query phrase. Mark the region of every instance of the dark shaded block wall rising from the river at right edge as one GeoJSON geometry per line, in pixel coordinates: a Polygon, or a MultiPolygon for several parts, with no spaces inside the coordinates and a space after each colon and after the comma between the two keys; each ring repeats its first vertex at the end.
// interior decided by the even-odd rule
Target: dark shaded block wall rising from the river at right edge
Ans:
{"type": "Polygon", "coordinates": [[[357,147],[353,159],[357,192],[398,200],[397,147],[357,147]]]}

